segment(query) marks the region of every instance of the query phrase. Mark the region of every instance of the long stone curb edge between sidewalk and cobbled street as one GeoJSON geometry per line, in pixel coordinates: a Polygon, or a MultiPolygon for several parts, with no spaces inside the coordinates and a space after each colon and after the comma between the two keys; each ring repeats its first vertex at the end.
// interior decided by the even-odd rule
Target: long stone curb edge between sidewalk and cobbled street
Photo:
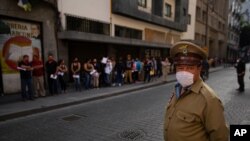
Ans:
{"type": "MultiPolygon", "coordinates": [[[[217,72],[217,71],[220,71],[223,69],[224,68],[213,70],[213,71],[210,71],[210,73],[217,72]]],[[[67,103],[62,103],[62,104],[52,105],[52,106],[42,106],[40,108],[18,111],[15,113],[8,113],[5,115],[0,115],[0,122],[7,121],[10,119],[14,119],[14,118],[28,116],[31,114],[37,114],[37,113],[42,113],[42,112],[46,112],[46,111],[51,111],[51,110],[55,110],[55,109],[59,109],[59,108],[67,107],[67,106],[73,106],[73,105],[82,104],[82,103],[86,103],[86,102],[101,100],[101,99],[105,99],[105,98],[109,98],[109,97],[113,97],[113,96],[125,95],[126,93],[129,93],[129,92],[139,91],[142,89],[149,89],[149,88],[152,88],[155,86],[161,86],[164,84],[173,83],[175,81],[176,81],[176,79],[170,80],[168,82],[157,82],[155,84],[151,84],[151,85],[147,85],[147,86],[143,85],[143,86],[139,86],[136,88],[126,89],[126,90],[122,90],[122,91],[116,91],[116,92],[109,93],[109,94],[104,93],[103,95],[100,95],[100,96],[85,98],[85,99],[81,99],[78,101],[72,101],[72,102],[67,102],[67,103]]]]}

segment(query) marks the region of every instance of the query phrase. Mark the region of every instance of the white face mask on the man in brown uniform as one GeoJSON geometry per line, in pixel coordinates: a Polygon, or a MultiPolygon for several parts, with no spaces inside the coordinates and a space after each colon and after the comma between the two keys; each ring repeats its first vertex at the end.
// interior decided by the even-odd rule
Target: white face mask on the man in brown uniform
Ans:
{"type": "Polygon", "coordinates": [[[187,87],[194,83],[194,74],[187,71],[179,71],[176,73],[176,79],[182,87],[187,87]]]}

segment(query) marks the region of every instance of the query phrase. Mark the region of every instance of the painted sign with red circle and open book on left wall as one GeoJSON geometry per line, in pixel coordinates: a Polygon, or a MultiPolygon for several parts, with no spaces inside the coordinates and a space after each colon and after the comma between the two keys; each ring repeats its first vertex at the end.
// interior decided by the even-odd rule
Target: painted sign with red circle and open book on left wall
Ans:
{"type": "Polygon", "coordinates": [[[33,55],[41,57],[40,29],[39,23],[0,18],[0,61],[4,93],[20,91],[17,64],[23,55],[28,55],[30,61],[33,55]]]}

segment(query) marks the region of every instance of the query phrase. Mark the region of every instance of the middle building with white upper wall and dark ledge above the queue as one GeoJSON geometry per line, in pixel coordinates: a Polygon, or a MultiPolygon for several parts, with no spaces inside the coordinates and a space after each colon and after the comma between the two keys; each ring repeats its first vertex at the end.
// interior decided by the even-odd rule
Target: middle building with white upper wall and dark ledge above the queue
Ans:
{"type": "Polygon", "coordinates": [[[59,57],[164,57],[186,31],[187,0],[58,0],[59,57]],[[98,10],[96,10],[98,9],[98,10]]]}

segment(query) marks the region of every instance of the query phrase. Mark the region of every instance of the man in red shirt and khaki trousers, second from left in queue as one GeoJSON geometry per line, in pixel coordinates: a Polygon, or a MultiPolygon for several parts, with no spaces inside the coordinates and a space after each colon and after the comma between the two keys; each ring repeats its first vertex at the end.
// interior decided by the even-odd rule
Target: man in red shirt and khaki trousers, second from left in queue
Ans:
{"type": "Polygon", "coordinates": [[[39,56],[33,55],[33,61],[31,64],[33,66],[32,76],[35,97],[44,97],[46,94],[44,89],[43,62],[39,59],[39,56]]]}

